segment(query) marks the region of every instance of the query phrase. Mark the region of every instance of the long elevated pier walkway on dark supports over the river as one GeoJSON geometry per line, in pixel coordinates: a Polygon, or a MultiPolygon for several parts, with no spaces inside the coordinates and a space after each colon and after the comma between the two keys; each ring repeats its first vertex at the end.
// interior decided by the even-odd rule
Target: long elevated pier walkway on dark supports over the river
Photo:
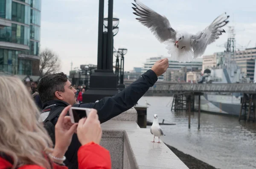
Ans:
{"type": "MultiPolygon", "coordinates": [[[[126,85],[132,81],[127,81],[126,85]]],[[[200,129],[200,98],[204,93],[243,93],[239,121],[256,121],[256,84],[255,83],[207,83],[207,84],[191,84],[191,83],[172,83],[157,82],[150,87],[147,94],[149,96],[162,95],[173,96],[172,111],[186,111],[190,114],[195,110],[195,96],[198,97],[198,129],[200,129]]],[[[147,96],[148,96],[147,95],[147,96]]]]}

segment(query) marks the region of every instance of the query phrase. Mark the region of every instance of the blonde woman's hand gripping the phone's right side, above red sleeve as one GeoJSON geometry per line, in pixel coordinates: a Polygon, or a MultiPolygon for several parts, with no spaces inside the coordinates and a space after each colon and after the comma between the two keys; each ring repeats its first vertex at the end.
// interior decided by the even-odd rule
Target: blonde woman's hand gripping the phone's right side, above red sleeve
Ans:
{"type": "Polygon", "coordinates": [[[99,144],[102,138],[102,129],[97,110],[92,109],[87,118],[81,118],[77,126],[77,136],[81,145],[93,141],[99,144]]]}

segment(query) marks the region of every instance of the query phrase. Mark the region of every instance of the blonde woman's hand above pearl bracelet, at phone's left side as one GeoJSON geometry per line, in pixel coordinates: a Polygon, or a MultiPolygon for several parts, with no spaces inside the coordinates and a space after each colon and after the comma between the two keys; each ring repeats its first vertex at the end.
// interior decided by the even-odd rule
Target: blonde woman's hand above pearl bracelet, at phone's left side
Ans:
{"type": "Polygon", "coordinates": [[[71,105],[64,108],[55,125],[55,147],[52,155],[57,158],[64,156],[77,128],[77,123],[71,123],[70,116],[65,116],[70,107],[71,105]]]}

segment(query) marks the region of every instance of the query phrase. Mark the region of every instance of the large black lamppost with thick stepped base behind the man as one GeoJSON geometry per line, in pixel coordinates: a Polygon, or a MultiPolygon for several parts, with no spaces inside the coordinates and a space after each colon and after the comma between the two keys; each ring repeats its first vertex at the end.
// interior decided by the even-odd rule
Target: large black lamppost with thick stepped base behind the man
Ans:
{"type": "Polygon", "coordinates": [[[113,21],[113,0],[108,0],[107,30],[111,31],[103,32],[104,0],[99,0],[97,69],[91,74],[89,89],[83,94],[84,103],[95,102],[118,93],[117,78],[113,72],[113,21]]]}

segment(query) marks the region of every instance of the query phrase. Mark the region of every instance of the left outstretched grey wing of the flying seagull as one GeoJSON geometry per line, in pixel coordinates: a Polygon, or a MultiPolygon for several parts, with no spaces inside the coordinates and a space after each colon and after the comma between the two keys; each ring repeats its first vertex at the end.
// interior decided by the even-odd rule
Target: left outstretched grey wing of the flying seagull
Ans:
{"type": "Polygon", "coordinates": [[[134,14],[139,16],[136,18],[144,26],[148,27],[160,42],[165,42],[175,38],[175,30],[171,27],[169,20],[165,16],[161,16],[157,12],[145,6],[138,0],[134,0],[134,14]]]}

